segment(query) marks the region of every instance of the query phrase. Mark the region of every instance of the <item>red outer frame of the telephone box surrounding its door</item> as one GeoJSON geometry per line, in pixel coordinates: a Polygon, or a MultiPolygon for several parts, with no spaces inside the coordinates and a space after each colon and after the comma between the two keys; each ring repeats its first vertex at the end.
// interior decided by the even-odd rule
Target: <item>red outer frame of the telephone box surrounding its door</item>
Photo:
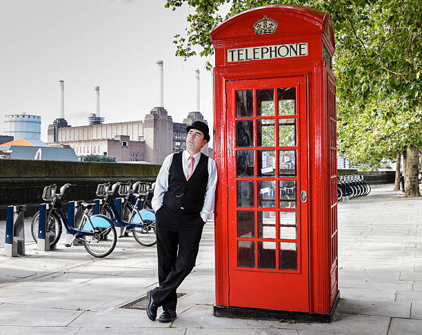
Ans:
{"type": "Polygon", "coordinates": [[[336,151],[335,79],[322,56],[323,47],[330,57],[334,54],[330,18],[323,12],[301,6],[256,8],[215,28],[211,41],[216,62],[213,72],[214,159],[219,176],[215,217],[216,305],[230,306],[228,194],[232,181],[228,176],[228,165],[233,162],[228,161],[227,152],[226,82],[305,76],[308,109],[309,287],[301,287],[301,290],[309,290],[310,314],[328,314],[338,293],[336,198],[334,200],[332,187],[332,181],[336,178],[336,159],[333,158],[336,151]],[[279,23],[277,32],[255,35],[252,26],[264,15],[279,23]],[[225,50],[230,48],[298,42],[308,43],[308,56],[234,63],[226,61],[225,50]]]}

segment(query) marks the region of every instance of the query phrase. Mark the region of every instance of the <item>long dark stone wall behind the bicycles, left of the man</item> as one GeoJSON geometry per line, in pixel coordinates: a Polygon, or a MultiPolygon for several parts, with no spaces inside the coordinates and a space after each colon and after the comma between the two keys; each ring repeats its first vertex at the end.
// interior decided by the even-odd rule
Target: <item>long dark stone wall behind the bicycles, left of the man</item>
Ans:
{"type": "Polygon", "coordinates": [[[8,205],[27,205],[26,216],[43,203],[43,188],[76,184],[66,190],[63,202],[93,200],[99,183],[155,181],[160,165],[0,159],[0,219],[8,205]]]}

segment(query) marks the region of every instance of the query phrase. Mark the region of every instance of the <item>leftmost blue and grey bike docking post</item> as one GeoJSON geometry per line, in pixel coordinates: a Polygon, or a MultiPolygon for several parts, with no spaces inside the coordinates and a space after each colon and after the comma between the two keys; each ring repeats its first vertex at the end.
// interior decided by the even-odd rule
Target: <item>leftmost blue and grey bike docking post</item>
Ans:
{"type": "Polygon", "coordinates": [[[8,206],[4,254],[8,257],[25,256],[25,230],[23,212],[25,205],[8,206]]]}

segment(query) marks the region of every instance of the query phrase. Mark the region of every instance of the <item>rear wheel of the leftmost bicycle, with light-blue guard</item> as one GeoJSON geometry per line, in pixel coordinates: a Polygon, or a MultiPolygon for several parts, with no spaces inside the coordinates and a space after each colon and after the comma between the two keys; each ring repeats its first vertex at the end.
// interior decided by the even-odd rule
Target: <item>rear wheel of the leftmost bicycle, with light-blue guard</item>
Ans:
{"type": "Polygon", "coordinates": [[[83,230],[94,232],[95,235],[80,236],[86,251],[94,257],[102,258],[108,256],[116,246],[117,233],[112,221],[103,215],[93,215],[90,217],[94,230],[87,221],[83,225],[83,230]]]}

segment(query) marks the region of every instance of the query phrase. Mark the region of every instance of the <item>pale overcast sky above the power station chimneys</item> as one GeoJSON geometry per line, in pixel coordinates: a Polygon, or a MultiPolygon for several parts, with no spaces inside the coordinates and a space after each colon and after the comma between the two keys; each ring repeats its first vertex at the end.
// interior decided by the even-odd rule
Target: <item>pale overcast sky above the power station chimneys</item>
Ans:
{"type": "MultiPolygon", "coordinates": [[[[143,120],[157,105],[164,61],[164,107],[181,122],[195,109],[194,70],[201,75],[201,112],[212,125],[212,73],[207,59],[175,57],[174,34],[188,8],[165,0],[0,0],[0,134],[5,114],[41,116],[41,140],[60,116],[59,80],[65,81],[65,118],[88,124],[100,87],[106,123],[143,120]]],[[[213,61],[213,60],[212,60],[213,61]]]]}

